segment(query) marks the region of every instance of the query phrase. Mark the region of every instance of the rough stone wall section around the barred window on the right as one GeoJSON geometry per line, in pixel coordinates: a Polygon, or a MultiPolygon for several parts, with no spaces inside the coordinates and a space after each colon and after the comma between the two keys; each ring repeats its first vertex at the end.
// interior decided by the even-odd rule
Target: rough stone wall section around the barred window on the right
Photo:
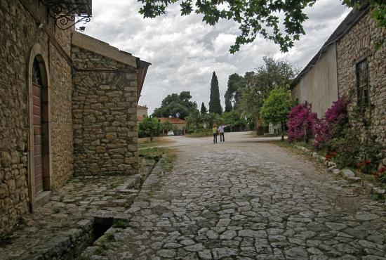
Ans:
{"type": "Polygon", "coordinates": [[[377,136],[386,145],[386,44],[375,50],[375,41],[385,39],[385,28],[376,27],[371,14],[364,16],[337,42],[340,96],[350,98],[350,121],[361,129],[363,138],[377,136]],[[371,106],[357,106],[356,64],[367,57],[371,106]]]}

